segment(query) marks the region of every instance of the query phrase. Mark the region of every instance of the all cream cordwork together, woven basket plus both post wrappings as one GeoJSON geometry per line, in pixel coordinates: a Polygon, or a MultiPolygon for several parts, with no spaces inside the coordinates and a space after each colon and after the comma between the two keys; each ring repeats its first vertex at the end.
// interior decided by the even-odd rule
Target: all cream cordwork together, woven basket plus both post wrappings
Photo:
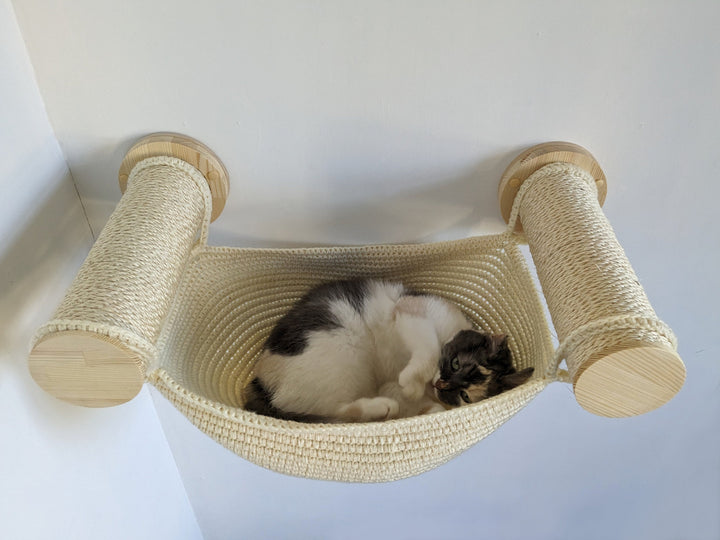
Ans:
{"type": "Polygon", "coordinates": [[[429,244],[237,249],[207,246],[211,199],[202,175],[175,158],[148,158],[131,172],[127,192],[35,343],[73,329],[119,340],[194,425],[263,467],[352,482],[422,473],[492,433],[550,382],[566,379],[557,372],[566,351],[574,373],[584,358],[618,340],[674,343],[622,249],[597,233],[595,227],[609,229],[599,206],[575,210],[578,185],[580,202],[592,198],[591,178],[558,167],[565,166],[545,167],[526,180],[502,234],[429,244]],[[553,183],[556,173],[572,181],[553,183]],[[586,228],[592,231],[577,228],[586,212],[595,220],[586,228]],[[527,234],[537,233],[531,249],[562,341],[557,352],[519,249],[524,239],[511,232],[520,214],[527,234]],[[572,254],[562,254],[567,247],[557,251],[558,238],[572,254]],[[587,246],[592,249],[580,258],[587,246]],[[243,410],[241,390],[275,322],[311,286],[358,276],[401,280],[454,302],[477,327],[508,334],[517,367],[533,366],[533,378],[474,405],[386,422],[301,424],[243,410]]]}

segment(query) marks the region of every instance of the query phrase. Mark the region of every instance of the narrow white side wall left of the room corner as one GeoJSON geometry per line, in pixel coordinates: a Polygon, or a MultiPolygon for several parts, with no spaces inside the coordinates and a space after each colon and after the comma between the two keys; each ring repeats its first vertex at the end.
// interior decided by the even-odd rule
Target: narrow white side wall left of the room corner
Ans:
{"type": "Polygon", "coordinates": [[[30,337],[92,237],[6,0],[0,72],[0,538],[202,538],[146,391],[89,410],[30,378],[30,337]]]}

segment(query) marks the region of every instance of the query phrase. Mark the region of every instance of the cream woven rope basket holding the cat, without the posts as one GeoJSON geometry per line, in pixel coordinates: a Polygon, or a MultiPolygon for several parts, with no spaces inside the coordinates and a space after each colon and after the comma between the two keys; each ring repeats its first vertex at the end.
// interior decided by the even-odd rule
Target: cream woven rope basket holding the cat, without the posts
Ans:
{"type": "Polygon", "coordinates": [[[311,249],[205,248],[189,262],[159,342],[153,384],[196,426],[263,467],[295,476],[380,482],[419,474],[494,431],[551,379],[547,322],[509,235],[455,242],[311,249]],[[537,378],[440,414],[369,424],[299,424],[242,409],[241,390],[275,322],[311,286],[351,276],[401,280],[506,332],[537,378]]]}

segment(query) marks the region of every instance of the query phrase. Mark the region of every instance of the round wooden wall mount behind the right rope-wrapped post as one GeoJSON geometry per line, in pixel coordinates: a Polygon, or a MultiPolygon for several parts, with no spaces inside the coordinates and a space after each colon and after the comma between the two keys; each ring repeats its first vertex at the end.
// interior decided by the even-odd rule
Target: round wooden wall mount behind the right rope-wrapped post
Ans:
{"type": "MultiPolygon", "coordinates": [[[[538,144],[518,155],[500,178],[498,199],[500,213],[507,223],[512,213],[512,206],[523,182],[538,169],[551,163],[572,163],[588,171],[595,179],[598,190],[598,201],[602,206],[607,194],[607,180],[600,165],[593,155],[577,144],[555,141],[538,144]]],[[[520,219],[515,227],[516,232],[522,231],[520,219]]]]}

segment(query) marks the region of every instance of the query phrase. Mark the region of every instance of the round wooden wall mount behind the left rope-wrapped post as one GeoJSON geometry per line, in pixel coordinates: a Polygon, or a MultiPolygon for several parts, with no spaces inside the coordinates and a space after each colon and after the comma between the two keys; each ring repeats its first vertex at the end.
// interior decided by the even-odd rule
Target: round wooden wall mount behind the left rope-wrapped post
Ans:
{"type": "Polygon", "coordinates": [[[215,153],[200,141],[179,133],[153,133],[136,142],[120,164],[118,180],[125,193],[133,167],[143,159],[170,156],[182,159],[202,173],[212,194],[211,221],[215,221],[225,208],[230,191],[230,180],[225,166],[215,153]]]}

